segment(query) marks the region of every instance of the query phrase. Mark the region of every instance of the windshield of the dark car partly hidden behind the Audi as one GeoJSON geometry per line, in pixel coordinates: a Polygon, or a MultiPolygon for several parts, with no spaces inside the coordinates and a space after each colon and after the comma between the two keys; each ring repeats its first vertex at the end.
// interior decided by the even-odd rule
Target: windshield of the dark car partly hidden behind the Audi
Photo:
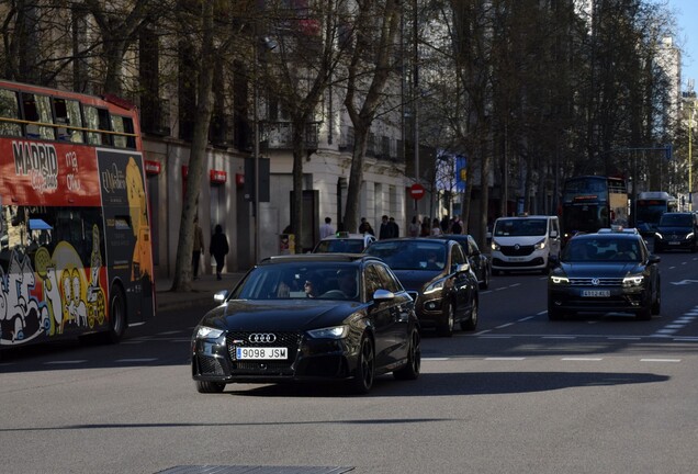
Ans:
{"type": "Polygon", "coordinates": [[[393,270],[432,270],[446,268],[446,244],[442,241],[390,240],[371,244],[367,253],[383,259],[393,270]]]}

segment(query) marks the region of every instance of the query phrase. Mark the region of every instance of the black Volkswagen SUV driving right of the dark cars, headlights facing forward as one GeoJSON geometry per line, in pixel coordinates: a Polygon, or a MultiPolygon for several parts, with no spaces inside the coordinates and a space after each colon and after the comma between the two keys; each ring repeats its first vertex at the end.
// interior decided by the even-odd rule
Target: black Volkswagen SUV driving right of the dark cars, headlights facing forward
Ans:
{"type": "Polygon", "coordinates": [[[658,263],[638,233],[576,236],[548,276],[548,317],[592,312],[651,319],[662,302],[658,263]]]}

